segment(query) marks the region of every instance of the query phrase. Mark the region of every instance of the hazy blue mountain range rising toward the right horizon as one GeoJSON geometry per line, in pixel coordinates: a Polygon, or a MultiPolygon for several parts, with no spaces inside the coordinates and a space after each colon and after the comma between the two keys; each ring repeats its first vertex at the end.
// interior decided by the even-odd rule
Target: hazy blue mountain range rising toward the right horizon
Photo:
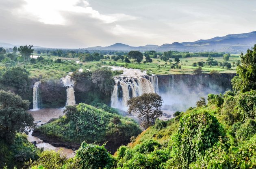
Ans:
{"type": "Polygon", "coordinates": [[[158,45],[145,45],[139,47],[133,47],[122,43],[115,43],[114,45],[101,47],[88,47],[87,50],[115,50],[115,51],[223,51],[230,53],[241,53],[251,49],[256,44],[256,31],[243,33],[243,34],[228,34],[222,37],[215,37],[212,39],[199,40],[195,42],[174,42],[166,43],[161,46],[158,45]]]}

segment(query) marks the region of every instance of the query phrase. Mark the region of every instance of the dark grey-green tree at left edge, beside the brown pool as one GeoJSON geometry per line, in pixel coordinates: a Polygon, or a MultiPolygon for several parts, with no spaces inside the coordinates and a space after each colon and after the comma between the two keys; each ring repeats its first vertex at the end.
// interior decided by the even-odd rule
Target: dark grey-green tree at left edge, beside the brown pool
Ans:
{"type": "Polygon", "coordinates": [[[35,127],[34,118],[27,112],[29,101],[19,95],[0,90],[0,138],[13,141],[17,132],[35,127]]]}

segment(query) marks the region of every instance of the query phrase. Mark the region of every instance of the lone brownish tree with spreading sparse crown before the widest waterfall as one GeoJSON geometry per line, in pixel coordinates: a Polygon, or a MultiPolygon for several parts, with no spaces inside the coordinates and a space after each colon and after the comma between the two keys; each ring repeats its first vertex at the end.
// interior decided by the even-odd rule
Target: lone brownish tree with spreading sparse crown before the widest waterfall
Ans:
{"type": "Polygon", "coordinates": [[[142,120],[141,126],[148,128],[156,118],[162,116],[161,110],[163,99],[156,93],[144,93],[141,96],[133,97],[128,102],[128,113],[136,114],[142,120]]]}

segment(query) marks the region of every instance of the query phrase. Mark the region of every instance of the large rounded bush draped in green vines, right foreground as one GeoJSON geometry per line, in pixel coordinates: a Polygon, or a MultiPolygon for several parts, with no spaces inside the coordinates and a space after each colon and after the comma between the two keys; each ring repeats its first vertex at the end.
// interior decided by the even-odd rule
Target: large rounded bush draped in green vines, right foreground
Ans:
{"type": "Polygon", "coordinates": [[[180,167],[188,168],[189,164],[204,156],[224,136],[218,120],[205,111],[193,111],[180,119],[180,126],[175,136],[176,158],[180,167]]]}

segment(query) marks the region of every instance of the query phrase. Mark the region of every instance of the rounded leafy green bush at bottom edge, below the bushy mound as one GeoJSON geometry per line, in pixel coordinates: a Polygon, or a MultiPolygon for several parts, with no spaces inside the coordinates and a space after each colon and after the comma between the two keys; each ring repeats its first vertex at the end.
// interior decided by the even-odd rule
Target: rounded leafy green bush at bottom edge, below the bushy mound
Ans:
{"type": "Polygon", "coordinates": [[[80,159],[81,169],[111,169],[113,167],[113,158],[104,145],[87,144],[84,141],[77,150],[76,157],[80,159]]]}

